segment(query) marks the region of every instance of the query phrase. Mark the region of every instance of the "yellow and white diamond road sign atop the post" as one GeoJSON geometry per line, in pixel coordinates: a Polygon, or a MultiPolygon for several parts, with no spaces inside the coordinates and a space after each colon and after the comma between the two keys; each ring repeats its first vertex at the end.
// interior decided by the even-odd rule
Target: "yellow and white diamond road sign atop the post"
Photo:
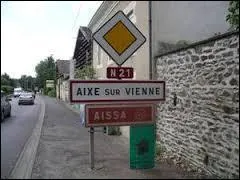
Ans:
{"type": "Polygon", "coordinates": [[[122,11],[95,32],[93,38],[118,65],[122,65],[146,41],[122,11]]]}

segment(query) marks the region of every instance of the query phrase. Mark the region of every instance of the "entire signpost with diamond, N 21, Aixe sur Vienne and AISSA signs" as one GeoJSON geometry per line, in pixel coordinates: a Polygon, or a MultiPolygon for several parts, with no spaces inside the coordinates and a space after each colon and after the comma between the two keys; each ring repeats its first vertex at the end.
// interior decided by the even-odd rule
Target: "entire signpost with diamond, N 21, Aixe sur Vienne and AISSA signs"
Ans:
{"type": "Polygon", "coordinates": [[[118,65],[107,69],[107,78],[117,80],[70,80],[70,102],[88,104],[84,111],[87,114],[85,126],[90,127],[89,160],[90,168],[94,169],[94,127],[154,123],[153,103],[165,100],[165,82],[122,80],[133,78],[133,68],[122,65],[146,42],[145,36],[122,11],[118,11],[92,37],[118,65]],[[146,105],[147,102],[150,105],[146,105]]]}

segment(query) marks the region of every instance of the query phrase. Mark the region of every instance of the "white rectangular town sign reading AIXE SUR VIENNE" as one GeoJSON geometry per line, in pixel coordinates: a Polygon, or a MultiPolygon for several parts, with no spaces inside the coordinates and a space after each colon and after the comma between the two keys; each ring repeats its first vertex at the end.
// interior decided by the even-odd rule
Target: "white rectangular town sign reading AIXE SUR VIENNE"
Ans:
{"type": "Polygon", "coordinates": [[[164,81],[70,80],[70,102],[165,100],[164,81]]]}

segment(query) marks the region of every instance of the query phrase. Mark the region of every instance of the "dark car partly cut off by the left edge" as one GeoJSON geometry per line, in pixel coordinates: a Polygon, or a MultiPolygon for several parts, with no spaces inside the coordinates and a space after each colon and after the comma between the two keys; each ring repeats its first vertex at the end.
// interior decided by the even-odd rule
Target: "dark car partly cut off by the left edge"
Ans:
{"type": "Polygon", "coordinates": [[[11,100],[5,92],[1,91],[1,121],[3,121],[5,117],[11,116],[11,103],[9,102],[11,100]]]}

